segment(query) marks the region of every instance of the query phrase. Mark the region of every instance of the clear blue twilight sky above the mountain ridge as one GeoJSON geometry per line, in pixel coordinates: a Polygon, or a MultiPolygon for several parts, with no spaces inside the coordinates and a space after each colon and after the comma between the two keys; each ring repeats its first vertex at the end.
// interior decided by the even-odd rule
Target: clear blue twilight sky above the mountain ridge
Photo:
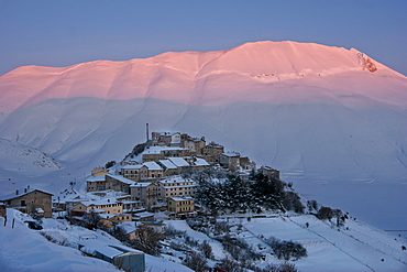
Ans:
{"type": "Polygon", "coordinates": [[[254,41],[355,47],[407,75],[406,0],[0,0],[0,75],[254,41]]]}

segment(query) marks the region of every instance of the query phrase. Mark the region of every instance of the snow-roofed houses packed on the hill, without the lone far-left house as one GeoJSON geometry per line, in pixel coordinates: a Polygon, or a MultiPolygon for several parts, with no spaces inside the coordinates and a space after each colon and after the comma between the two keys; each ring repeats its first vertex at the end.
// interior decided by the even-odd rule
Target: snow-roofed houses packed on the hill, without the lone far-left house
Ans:
{"type": "MultiPolygon", "coordinates": [[[[223,145],[206,143],[179,132],[153,132],[152,139],[138,144],[125,159],[110,166],[96,167],[87,178],[87,192],[101,197],[98,202],[70,203],[75,216],[92,210],[112,222],[121,220],[151,221],[163,211],[167,218],[189,218],[199,213],[195,203],[197,184],[190,173],[209,167],[239,173],[241,178],[256,171],[249,157],[238,152],[224,152],[223,145]],[[116,199],[109,193],[120,194],[116,199]]],[[[262,166],[258,172],[279,178],[279,172],[262,166]]]]}

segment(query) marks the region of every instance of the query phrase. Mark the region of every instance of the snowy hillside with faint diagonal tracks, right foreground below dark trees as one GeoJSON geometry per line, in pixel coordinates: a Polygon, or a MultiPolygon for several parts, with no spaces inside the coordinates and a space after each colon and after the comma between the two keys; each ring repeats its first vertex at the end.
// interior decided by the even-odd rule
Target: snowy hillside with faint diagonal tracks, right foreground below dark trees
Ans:
{"type": "MultiPolygon", "coordinates": [[[[377,229],[356,220],[349,220],[345,228],[338,230],[328,221],[316,219],[315,216],[276,216],[252,218],[244,216],[230,217],[228,224],[239,226],[232,228],[231,236],[242,239],[265,255],[258,266],[276,263],[278,259],[266,242],[274,237],[280,240],[300,242],[307,249],[307,257],[295,261],[299,271],[405,271],[407,266],[405,241],[394,239],[377,229]],[[309,227],[306,227],[308,224],[309,227]],[[382,261],[383,259],[383,261],[382,261]]],[[[186,231],[195,240],[208,240],[216,259],[224,258],[222,244],[210,239],[202,232],[195,231],[185,221],[167,221],[177,230],[186,231]]]]}

